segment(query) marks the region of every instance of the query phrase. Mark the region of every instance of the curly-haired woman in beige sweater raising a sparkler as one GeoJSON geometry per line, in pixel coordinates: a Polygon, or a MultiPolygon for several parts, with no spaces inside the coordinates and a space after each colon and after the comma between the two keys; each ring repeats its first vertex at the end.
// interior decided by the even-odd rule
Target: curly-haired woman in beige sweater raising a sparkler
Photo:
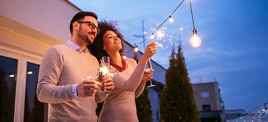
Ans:
{"type": "Polygon", "coordinates": [[[138,64],[134,59],[123,59],[125,39],[116,26],[115,21],[99,21],[100,33],[88,45],[98,61],[102,56],[109,56],[115,75],[122,76],[114,77],[115,89],[104,101],[98,122],[138,122],[135,98],[141,95],[146,81],[153,78],[153,69],[148,72],[144,69],[146,61],[156,53],[156,42],[147,45],[138,64]]]}

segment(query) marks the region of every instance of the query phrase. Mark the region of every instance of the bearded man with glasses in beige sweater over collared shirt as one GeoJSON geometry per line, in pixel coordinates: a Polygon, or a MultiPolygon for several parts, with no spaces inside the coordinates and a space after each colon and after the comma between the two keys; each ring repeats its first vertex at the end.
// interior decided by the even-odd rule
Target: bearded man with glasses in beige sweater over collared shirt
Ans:
{"type": "Polygon", "coordinates": [[[78,12],[70,23],[71,40],[49,48],[43,55],[37,86],[40,102],[50,103],[49,122],[97,122],[96,107],[113,91],[113,81],[96,81],[98,61],[88,52],[99,33],[97,16],[78,12]]]}

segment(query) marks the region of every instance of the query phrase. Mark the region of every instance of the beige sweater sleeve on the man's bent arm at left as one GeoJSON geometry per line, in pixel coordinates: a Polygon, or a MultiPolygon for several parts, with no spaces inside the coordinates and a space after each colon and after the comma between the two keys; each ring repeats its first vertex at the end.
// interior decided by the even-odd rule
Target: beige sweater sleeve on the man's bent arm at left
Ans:
{"type": "Polygon", "coordinates": [[[61,103],[75,99],[73,84],[57,85],[62,66],[62,55],[53,47],[48,49],[39,68],[37,97],[40,102],[61,103]]]}

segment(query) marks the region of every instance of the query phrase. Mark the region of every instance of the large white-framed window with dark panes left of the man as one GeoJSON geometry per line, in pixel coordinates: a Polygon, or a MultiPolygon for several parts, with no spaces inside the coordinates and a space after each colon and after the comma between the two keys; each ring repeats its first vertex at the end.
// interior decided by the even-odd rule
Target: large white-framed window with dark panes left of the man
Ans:
{"type": "Polygon", "coordinates": [[[40,58],[13,54],[0,49],[0,122],[47,122],[48,103],[36,95],[40,58]]]}

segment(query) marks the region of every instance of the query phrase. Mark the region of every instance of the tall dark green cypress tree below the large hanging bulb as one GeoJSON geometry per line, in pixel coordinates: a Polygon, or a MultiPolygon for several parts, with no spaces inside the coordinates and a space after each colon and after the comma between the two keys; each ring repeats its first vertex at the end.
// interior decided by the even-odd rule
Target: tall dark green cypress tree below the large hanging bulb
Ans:
{"type": "Polygon", "coordinates": [[[188,77],[181,41],[178,53],[172,47],[170,67],[166,71],[166,84],[159,99],[159,122],[201,122],[193,89],[188,77]]]}

